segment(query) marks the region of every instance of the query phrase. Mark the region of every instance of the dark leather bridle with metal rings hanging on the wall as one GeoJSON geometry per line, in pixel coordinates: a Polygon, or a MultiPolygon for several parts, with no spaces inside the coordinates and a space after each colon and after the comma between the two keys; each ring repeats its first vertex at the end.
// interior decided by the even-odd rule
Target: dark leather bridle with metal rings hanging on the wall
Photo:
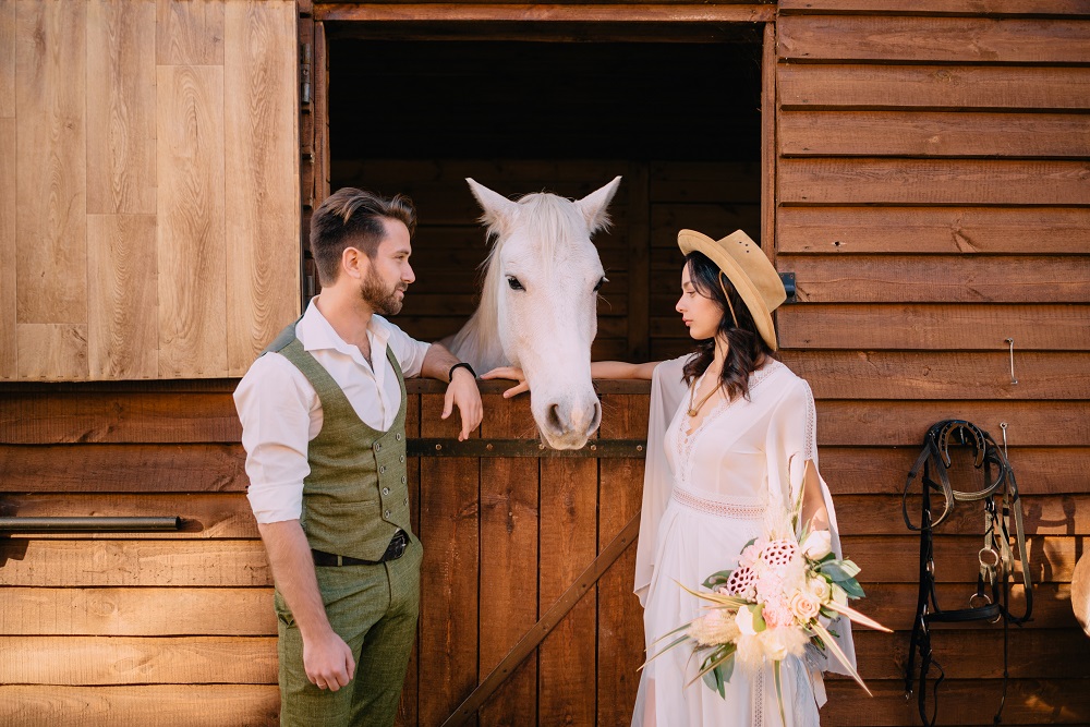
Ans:
{"type": "MultiPolygon", "coordinates": [[[[936,504],[937,506],[937,504],[936,504]]],[[[998,724],[1007,694],[1007,627],[1021,626],[1030,619],[1033,609],[1033,584],[1030,580],[1029,560],[1026,550],[1026,534],[1022,526],[1021,501],[1018,484],[1006,455],[992,437],[980,427],[964,420],[945,420],[928,429],[923,438],[923,450],[917,458],[901,498],[901,514],[909,530],[920,533],[920,592],[917,602],[916,620],[912,625],[912,641],[908,652],[908,667],[905,674],[905,698],[912,696],[916,654],[920,654],[918,701],[920,719],[933,727],[938,713],[938,684],[945,678],[942,666],[934,661],[931,651],[931,625],[985,620],[995,623],[1003,620],[1003,695],[995,713],[998,724]],[[984,487],[978,490],[957,490],[950,485],[950,446],[971,448],[973,467],[982,469],[984,487]],[[908,514],[908,497],[912,483],[923,469],[921,519],[915,524],[908,514]],[[994,472],[994,478],[993,478],[994,472]],[[932,477],[937,476],[937,481],[932,477]],[[937,514],[932,510],[932,496],[942,495],[943,504],[937,514]],[[996,513],[996,498],[1002,497],[1002,518],[996,513]],[[977,592],[969,596],[968,608],[943,610],[935,593],[934,529],[942,524],[954,511],[957,502],[982,501],[984,507],[983,547],[977,555],[980,569],[977,574],[977,592]],[[1015,520],[1015,538],[1018,559],[1021,561],[1022,582],[1026,590],[1026,613],[1013,615],[1008,608],[1009,582],[1014,575],[1014,553],[1010,549],[1010,517],[1015,520]],[[989,591],[991,592],[989,594],[989,591]],[[934,707],[929,719],[927,713],[927,679],[934,666],[938,678],[932,688],[934,707]]]]}

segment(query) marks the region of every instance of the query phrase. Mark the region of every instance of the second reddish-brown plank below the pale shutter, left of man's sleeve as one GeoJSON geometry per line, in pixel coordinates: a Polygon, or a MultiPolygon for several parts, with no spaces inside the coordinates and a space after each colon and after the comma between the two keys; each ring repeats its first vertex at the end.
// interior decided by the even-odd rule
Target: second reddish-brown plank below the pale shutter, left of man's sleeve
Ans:
{"type": "MultiPolygon", "coordinates": [[[[23,400],[32,416],[37,409],[33,401],[23,400]]],[[[20,409],[4,414],[4,439],[13,436],[9,427],[22,417],[20,409]]],[[[0,446],[0,481],[5,490],[16,493],[244,493],[245,463],[246,453],[237,441],[0,446]]]]}

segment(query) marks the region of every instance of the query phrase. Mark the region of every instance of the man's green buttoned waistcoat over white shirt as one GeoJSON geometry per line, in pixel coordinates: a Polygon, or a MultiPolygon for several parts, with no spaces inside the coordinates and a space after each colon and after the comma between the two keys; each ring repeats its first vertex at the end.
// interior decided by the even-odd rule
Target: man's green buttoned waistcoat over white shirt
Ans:
{"type": "Polygon", "coordinates": [[[378,560],[398,529],[411,533],[405,475],[405,383],[387,347],[386,358],[398,376],[401,407],[387,432],[371,428],[352,409],[344,391],[295,338],[294,324],[269,344],[299,368],[322,402],[322,431],[311,440],[299,519],[316,550],[378,560]]]}

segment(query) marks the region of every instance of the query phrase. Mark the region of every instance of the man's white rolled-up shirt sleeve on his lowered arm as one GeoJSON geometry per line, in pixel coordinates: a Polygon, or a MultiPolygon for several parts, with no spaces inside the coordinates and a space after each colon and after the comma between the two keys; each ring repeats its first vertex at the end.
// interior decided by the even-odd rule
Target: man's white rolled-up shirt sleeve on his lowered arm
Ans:
{"type": "Polygon", "coordinates": [[[298,520],[303,511],[313,387],[287,359],[267,353],[234,391],[246,450],[246,497],[259,523],[298,520]]]}

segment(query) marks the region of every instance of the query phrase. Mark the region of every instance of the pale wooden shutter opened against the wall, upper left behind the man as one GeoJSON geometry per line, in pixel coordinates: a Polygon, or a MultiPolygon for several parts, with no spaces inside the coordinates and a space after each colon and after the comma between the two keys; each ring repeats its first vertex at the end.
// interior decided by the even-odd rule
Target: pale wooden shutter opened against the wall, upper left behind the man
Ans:
{"type": "Polygon", "coordinates": [[[241,376],[299,313],[295,3],[0,2],[0,380],[241,376]]]}

